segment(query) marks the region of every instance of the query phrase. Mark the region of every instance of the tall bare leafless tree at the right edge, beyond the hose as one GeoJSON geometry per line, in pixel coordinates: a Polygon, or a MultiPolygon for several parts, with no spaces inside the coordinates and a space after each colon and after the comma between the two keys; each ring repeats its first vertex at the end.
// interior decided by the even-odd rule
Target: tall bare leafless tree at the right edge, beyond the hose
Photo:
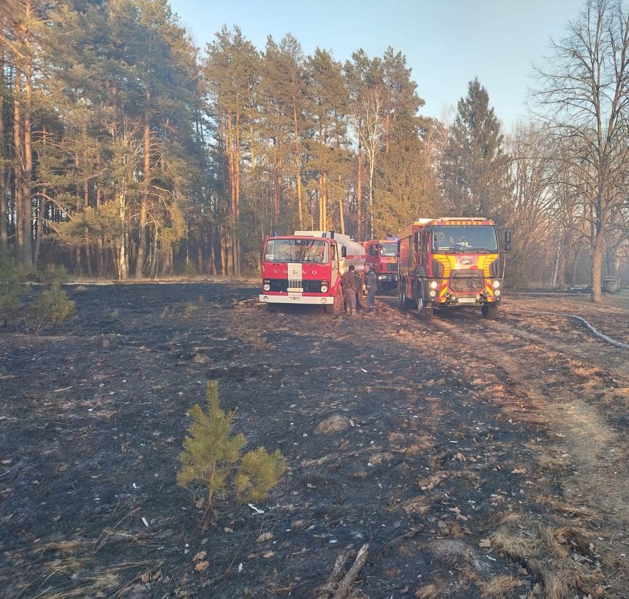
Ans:
{"type": "Polygon", "coordinates": [[[629,9],[621,0],[587,0],[568,35],[552,42],[537,69],[537,115],[587,169],[582,193],[592,224],[592,300],[601,299],[605,233],[624,201],[629,172],[629,9]]]}

